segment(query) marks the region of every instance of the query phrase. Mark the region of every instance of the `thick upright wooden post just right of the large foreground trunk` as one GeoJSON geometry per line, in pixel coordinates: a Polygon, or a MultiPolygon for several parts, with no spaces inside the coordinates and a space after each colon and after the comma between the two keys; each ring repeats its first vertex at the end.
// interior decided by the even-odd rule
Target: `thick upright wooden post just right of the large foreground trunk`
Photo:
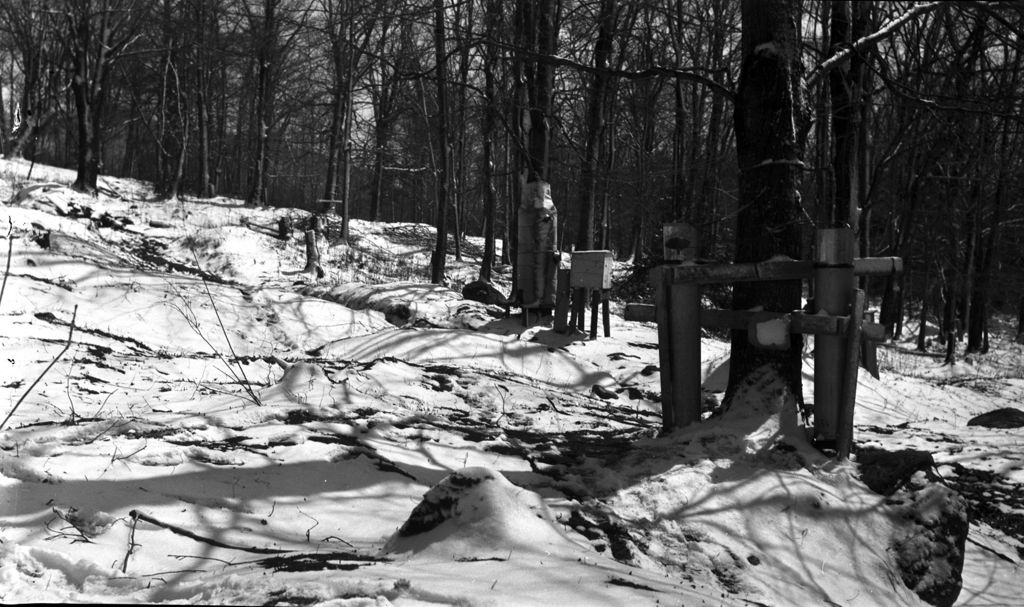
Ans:
{"type": "MultiPolygon", "coordinates": [[[[820,229],[816,241],[815,306],[826,314],[845,315],[850,310],[850,296],[856,280],[853,229],[820,229]]],[[[818,335],[814,338],[814,440],[820,444],[834,443],[838,437],[843,392],[836,378],[843,377],[845,345],[843,336],[818,335]]]]}

